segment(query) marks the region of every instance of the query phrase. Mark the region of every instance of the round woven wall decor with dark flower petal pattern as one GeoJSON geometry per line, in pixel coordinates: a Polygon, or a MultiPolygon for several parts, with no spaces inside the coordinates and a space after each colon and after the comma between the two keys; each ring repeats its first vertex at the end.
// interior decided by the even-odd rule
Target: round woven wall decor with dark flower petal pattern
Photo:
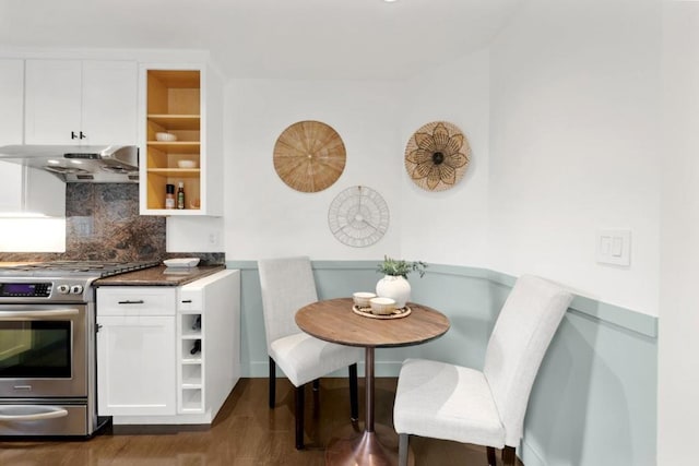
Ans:
{"type": "Polygon", "coordinates": [[[463,178],[471,147],[463,132],[446,121],[427,123],[411,136],[405,147],[405,169],[418,187],[445,191],[463,178]]]}

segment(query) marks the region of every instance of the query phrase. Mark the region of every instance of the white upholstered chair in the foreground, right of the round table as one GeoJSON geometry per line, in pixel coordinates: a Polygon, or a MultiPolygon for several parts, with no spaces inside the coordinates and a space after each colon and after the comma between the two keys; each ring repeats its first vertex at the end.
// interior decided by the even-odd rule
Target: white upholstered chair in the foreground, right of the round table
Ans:
{"type": "Polygon", "coordinates": [[[514,465],[529,395],[572,296],[531,275],[517,280],[497,319],[483,371],[424,359],[407,359],[399,374],[393,423],[399,464],[407,464],[408,435],[495,449],[514,465]]]}

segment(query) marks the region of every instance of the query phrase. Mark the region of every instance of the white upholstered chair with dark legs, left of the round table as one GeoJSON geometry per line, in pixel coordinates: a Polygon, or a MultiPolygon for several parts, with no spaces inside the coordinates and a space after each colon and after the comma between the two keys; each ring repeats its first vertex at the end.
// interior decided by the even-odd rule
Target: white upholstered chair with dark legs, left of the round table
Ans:
{"type": "Polygon", "coordinates": [[[296,387],[296,449],[304,447],[304,385],[344,367],[350,368],[350,405],[358,418],[357,362],[362,348],[323,342],[304,333],[294,319],[296,311],[318,301],[316,282],[308,258],[258,261],[266,350],[270,357],[270,408],[274,408],[276,366],[296,387]]]}

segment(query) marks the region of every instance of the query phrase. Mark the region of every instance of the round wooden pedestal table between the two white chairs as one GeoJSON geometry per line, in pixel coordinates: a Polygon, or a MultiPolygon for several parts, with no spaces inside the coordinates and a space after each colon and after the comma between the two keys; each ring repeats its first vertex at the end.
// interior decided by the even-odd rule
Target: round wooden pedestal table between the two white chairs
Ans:
{"type": "MultiPolygon", "coordinates": [[[[296,324],[327,342],[362,346],[366,351],[366,421],[364,431],[350,439],[333,439],[325,450],[328,465],[394,465],[398,450],[383,445],[374,423],[375,348],[429,342],[449,330],[449,319],[426,306],[408,302],[411,313],[400,319],[371,319],[352,310],[352,298],[329,299],[296,312],[296,324]]],[[[392,432],[392,429],[391,429],[392,432]]]]}

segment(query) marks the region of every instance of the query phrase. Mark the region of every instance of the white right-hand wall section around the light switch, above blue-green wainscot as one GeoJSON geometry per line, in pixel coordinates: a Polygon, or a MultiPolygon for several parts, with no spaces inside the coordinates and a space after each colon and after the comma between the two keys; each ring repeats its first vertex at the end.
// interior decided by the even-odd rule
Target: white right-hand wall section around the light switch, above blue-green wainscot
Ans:
{"type": "Polygon", "coordinates": [[[657,315],[659,0],[530,0],[491,47],[491,267],[657,315]],[[595,262],[630,228],[631,265],[595,262]]]}

